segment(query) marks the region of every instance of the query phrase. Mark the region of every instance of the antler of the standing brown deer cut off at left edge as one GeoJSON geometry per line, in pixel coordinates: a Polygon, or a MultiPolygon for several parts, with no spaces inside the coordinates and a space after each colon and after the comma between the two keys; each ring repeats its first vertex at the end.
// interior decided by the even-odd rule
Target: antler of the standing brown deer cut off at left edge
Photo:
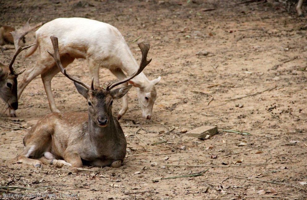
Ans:
{"type": "Polygon", "coordinates": [[[30,24],[29,24],[29,23],[30,23],[30,20],[31,20],[31,18],[27,21],[27,23],[26,23],[22,28],[20,28],[20,29],[15,29],[15,31],[11,32],[11,35],[12,35],[13,38],[14,38],[15,54],[14,54],[12,60],[11,60],[11,63],[10,63],[10,65],[9,65],[9,69],[10,69],[10,73],[13,74],[13,75],[15,75],[15,76],[18,76],[19,74],[21,74],[22,72],[24,72],[24,71],[22,71],[22,72],[20,72],[20,73],[16,73],[16,72],[14,71],[14,62],[15,62],[15,59],[16,59],[17,55],[18,55],[21,51],[23,51],[23,50],[25,50],[25,49],[28,49],[29,47],[35,45],[35,43],[34,43],[34,44],[32,44],[32,45],[28,45],[28,46],[22,47],[22,46],[19,45],[20,40],[21,40],[25,35],[27,35],[29,32],[31,32],[31,31],[33,31],[34,29],[36,29],[36,28],[42,26],[42,22],[41,22],[41,23],[36,24],[35,26],[31,27],[30,24]]]}

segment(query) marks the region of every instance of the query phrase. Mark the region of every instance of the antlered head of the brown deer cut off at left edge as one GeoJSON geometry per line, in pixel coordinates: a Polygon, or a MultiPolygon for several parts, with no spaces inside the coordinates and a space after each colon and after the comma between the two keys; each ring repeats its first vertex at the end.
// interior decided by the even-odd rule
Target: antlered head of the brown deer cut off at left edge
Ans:
{"type": "MultiPolygon", "coordinates": [[[[35,45],[29,45],[29,46],[21,46],[20,41],[26,34],[31,32],[32,30],[38,28],[42,24],[37,24],[34,27],[31,27],[29,25],[31,19],[28,20],[28,22],[20,29],[16,29],[15,31],[11,32],[11,37],[13,38],[14,45],[15,45],[15,54],[11,59],[11,63],[7,66],[0,62],[0,98],[7,103],[7,105],[10,107],[11,111],[15,111],[18,109],[18,97],[17,97],[17,77],[22,72],[16,72],[14,70],[14,62],[17,57],[17,55],[35,45]]],[[[10,112],[11,116],[15,116],[15,112],[10,112]]]]}

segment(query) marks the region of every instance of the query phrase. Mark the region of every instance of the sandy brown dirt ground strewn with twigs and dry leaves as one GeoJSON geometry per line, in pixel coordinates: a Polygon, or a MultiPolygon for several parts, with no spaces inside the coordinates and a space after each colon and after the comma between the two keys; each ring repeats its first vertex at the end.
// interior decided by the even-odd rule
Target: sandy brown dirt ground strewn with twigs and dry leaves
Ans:
{"type": "MultiPolygon", "coordinates": [[[[296,16],[294,3],[1,1],[1,24],[19,27],[29,17],[36,24],[72,16],[112,24],[138,62],[137,43],[151,44],[152,62],[144,73],[162,80],[151,120],[143,120],[136,90],[129,92],[129,110],[120,120],[128,143],[124,165],[73,169],[14,163],[29,130],[23,125],[50,113],[42,80],[35,78],[20,98],[16,118],[1,106],[0,191],[64,199],[70,198],[59,194],[76,194],[73,199],[307,199],[307,26],[305,17],[296,16]],[[205,51],[208,55],[197,55],[205,51]],[[185,135],[202,125],[217,125],[220,134],[207,140],[185,135]],[[184,175],[189,176],[153,181],[184,175]]],[[[32,43],[34,33],[26,41],[32,43]]],[[[13,53],[2,48],[1,62],[8,63],[13,53]]],[[[20,56],[16,66],[29,69],[37,58],[37,52],[20,56]]],[[[82,59],[67,71],[90,82],[82,59]]],[[[100,70],[104,86],[115,79],[100,70]]],[[[62,112],[87,110],[62,74],[52,80],[52,88],[62,112]]],[[[121,101],[114,104],[113,114],[121,101]]]]}

